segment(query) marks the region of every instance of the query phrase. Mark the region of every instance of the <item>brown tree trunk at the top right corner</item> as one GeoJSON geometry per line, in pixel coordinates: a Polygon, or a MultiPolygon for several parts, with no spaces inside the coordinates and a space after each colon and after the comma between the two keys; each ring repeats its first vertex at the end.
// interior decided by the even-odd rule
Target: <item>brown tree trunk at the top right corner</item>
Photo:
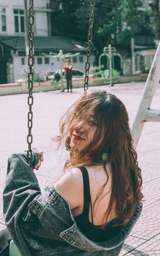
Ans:
{"type": "Polygon", "coordinates": [[[154,12],[154,24],[155,24],[155,43],[158,45],[160,40],[160,19],[159,19],[159,0],[153,0],[150,6],[154,12]]]}

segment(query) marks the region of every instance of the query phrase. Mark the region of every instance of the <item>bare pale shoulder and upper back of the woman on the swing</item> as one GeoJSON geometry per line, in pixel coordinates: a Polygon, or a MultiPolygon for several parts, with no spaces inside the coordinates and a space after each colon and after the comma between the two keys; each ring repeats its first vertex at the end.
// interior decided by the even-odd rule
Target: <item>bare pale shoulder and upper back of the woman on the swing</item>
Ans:
{"type": "MultiPolygon", "coordinates": [[[[104,165],[90,166],[87,168],[83,167],[86,169],[88,179],[87,176],[85,178],[85,176],[82,175],[83,173],[80,168],[74,168],[64,174],[64,176],[55,184],[55,188],[68,201],[74,217],[78,217],[83,213],[84,199],[87,197],[87,192],[90,192],[92,211],[91,204],[89,202],[90,207],[88,209],[88,216],[86,215],[85,217],[89,217],[89,221],[92,223],[93,212],[93,223],[95,226],[101,226],[106,223],[105,214],[110,202],[112,188],[112,173],[110,163],[106,164],[105,167],[106,170],[104,165]],[[107,184],[104,186],[106,181],[107,184]]],[[[109,214],[108,222],[114,220],[115,218],[116,202],[112,202],[112,211],[109,214]]]]}

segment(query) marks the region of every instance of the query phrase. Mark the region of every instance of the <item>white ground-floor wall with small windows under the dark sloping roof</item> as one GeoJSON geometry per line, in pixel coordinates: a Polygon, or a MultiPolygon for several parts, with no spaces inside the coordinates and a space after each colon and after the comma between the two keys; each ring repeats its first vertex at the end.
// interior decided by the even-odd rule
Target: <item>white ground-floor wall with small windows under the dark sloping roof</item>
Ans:
{"type": "MultiPolygon", "coordinates": [[[[80,69],[82,71],[85,71],[85,64],[86,64],[86,55],[81,55],[83,56],[83,63],[79,63],[79,56],[77,56],[77,63],[73,63],[74,69],[80,69]]],[[[15,56],[13,58],[13,67],[14,67],[14,82],[18,79],[21,78],[20,72],[25,65],[21,65],[21,58],[25,58],[25,56],[15,56]]],[[[27,61],[27,59],[25,59],[27,61]]],[[[95,57],[92,55],[90,57],[90,63],[91,66],[93,65],[93,62],[95,60],[95,57]]],[[[72,62],[72,57],[71,57],[71,62],[72,62]]],[[[65,63],[65,62],[64,62],[65,63]]],[[[50,69],[50,70],[56,70],[60,69],[60,62],[57,62],[56,58],[50,57],[50,64],[44,64],[44,56],[35,56],[34,57],[34,65],[33,68],[35,71],[41,73],[45,69],[50,69]],[[42,57],[42,64],[37,64],[37,58],[42,57]],[[54,63],[54,65],[52,65],[54,63]]]]}

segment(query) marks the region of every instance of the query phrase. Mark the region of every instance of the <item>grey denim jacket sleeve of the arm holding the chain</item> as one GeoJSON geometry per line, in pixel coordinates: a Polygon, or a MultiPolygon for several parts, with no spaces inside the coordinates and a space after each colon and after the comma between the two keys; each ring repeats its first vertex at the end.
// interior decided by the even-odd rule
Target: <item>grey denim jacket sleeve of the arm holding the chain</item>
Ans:
{"type": "MultiPolygon", "coordinates": [[[[32,152],[35,166],[39,152],[36,148],[32,152]]],[[[33,168],[27,163],[27,151],[9,157],[3,213],[12,239],[25,256],[33,256],[41,248],[39,237],[65,242],[60,233],[74,223],[68,202],[53,186],[40,191],[33,168]]]]}

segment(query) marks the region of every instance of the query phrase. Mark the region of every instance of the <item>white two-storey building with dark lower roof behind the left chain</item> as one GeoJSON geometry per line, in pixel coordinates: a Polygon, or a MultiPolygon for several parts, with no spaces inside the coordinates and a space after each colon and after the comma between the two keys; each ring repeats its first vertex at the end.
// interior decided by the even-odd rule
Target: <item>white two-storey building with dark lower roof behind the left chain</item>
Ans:
{"type": "MultiPolygon", "coordinates": [[[[27,1],[29,3],[29,1],[27,1]]],[[[71,57],[74,68],[85,70],[87,44],[72,38],[51,36],[50,0],[34,0],[34,69],[41,73],[45,69],[59,69],[56,58],[44,57],[41,53],[80,52],[71,57]]],[[[29,9],[29,6],[28,6],[29,9]]],[[[90,58],[91,65],[94,56],[90,58]]],[[[0,1],[0,84],[15,82],[21,78],[20,72],[26,66],[24,38],[24,1],[0,1]]]]}

